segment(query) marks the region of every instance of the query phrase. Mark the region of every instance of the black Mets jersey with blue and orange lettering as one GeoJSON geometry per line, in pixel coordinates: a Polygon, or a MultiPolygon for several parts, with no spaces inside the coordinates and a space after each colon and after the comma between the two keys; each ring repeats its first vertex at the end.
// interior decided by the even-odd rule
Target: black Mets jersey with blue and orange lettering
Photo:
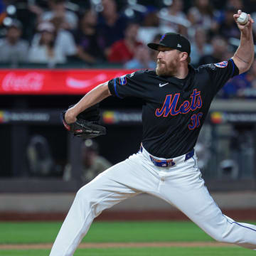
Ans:
{"type": "Polygon", "coordinates": [[[185,79],[140,70],[108,82],[113,96],[142,99],[142,144],[154,156],[170,159],[191,151],[213,97],[239,74],[233,59],[188,69],[185,79]]]}

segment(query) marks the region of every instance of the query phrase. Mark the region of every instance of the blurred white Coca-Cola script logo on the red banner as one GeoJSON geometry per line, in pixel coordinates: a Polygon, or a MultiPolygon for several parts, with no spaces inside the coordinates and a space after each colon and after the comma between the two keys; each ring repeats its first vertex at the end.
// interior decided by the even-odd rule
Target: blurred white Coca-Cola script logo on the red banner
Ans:
{"type": "Polygon", "coordinates": [[[40,91],[43,87],[43,74],[36,72],[26,75],[17,75],[14,72],[7,73],[2,82],[2,89],[9,91],[40,91]]]}

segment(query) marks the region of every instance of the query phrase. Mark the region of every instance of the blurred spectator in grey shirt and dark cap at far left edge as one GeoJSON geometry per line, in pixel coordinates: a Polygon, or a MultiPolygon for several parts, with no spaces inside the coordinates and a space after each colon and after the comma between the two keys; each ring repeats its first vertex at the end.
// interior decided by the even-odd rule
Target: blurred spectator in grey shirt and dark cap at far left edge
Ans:
{"type": "Polygon", "coordinates": [[[17,64],[26,62],[28,56],[28,42],[21,39],[22,25],[14,20],[7,28],[6,37],[0,39],[0,61],[17,64]]]}

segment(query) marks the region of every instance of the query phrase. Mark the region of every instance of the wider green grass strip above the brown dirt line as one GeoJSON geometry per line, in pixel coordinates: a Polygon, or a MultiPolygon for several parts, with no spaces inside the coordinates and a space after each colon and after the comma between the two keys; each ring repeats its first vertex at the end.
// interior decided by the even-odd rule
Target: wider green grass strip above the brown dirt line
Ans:
{"type": "MultiPolygon", "coordinates": [[[[53,242],[61,223],[0,222],[0,243],[53,242]],[[4,231],[4,232],[3,232],[4,231]]],[[[84,242],[212,241],[192,222],[95,222],[84,242]]]]}

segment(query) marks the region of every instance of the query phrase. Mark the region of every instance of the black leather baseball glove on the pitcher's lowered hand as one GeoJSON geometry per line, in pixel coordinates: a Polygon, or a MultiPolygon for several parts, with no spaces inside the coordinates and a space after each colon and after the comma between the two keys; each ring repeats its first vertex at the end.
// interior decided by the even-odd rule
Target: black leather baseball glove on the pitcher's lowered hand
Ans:
{"type": "Polygon", "coordinates": [[[62,113],[62,121],[65,129],[73,133],[74,136],[82,139],[90,139],[100,135],[106,134],[106,128],[98,124],[100,120],[100,107],[99,104],[87,108],[77,116],[77,120],[72,124],[65,121],[65,112],[62,113]]]}

